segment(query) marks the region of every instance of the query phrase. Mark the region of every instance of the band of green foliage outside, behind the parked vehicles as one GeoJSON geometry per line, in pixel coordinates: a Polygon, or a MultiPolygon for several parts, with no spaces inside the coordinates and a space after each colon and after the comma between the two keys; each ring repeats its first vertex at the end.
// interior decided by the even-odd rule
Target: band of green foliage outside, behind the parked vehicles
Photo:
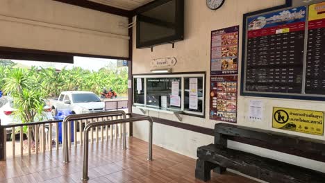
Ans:
{"type": "Polygon", "coordinates": [[[90,71],[81,67],[72,69],[31,67],[19,69],[0,65],[0,90],[3,92],[20,91],[23,88],[37,89],[44,97],[58,97],[63,91],[89,91],[100,94],[103,87],[112,88],[119,96],[127,94],[128,69],[103,67],[90,71]]]}

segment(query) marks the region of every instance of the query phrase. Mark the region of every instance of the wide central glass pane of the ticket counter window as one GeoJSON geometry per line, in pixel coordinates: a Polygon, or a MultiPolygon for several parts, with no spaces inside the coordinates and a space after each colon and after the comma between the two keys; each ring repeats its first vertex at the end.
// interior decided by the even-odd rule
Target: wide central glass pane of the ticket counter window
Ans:
{"type": "Polygon", "coordinates": [[[147,78],[147,105],[181,110],[181,78],[147,78]]]}

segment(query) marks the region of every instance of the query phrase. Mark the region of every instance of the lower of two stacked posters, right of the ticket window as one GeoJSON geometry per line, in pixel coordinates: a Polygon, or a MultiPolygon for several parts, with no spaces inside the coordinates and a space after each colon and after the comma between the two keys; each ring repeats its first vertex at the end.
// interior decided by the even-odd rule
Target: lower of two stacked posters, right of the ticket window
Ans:
{"type": "Polygon", "coordinates": [[[211,76],[210,119],[237,122],[237,75],[211,76]]]}

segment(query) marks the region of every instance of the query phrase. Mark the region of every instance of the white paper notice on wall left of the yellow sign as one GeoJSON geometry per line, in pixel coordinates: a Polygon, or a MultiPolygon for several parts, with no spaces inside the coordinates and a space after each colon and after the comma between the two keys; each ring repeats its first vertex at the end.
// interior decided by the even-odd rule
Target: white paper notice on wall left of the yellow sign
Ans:
{"type": "Polygon", "coordinates": [[[263,119],[263,101],[249,101],[249,121],[262,121],[263,119]]]}

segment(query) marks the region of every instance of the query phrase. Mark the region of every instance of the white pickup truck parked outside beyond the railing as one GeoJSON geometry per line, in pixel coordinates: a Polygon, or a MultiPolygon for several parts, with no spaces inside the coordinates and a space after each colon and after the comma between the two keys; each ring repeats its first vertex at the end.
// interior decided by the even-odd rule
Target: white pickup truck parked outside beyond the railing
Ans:
{"type": "Polygon", "coordinates": [[[58,110],[70,110],[72,114],[103,112],[105,103],[101,102],[99,96],[92,92],[68,91],[62,92],[58,101],[51,102],[53,116],[56,116],[58,110]]]}

